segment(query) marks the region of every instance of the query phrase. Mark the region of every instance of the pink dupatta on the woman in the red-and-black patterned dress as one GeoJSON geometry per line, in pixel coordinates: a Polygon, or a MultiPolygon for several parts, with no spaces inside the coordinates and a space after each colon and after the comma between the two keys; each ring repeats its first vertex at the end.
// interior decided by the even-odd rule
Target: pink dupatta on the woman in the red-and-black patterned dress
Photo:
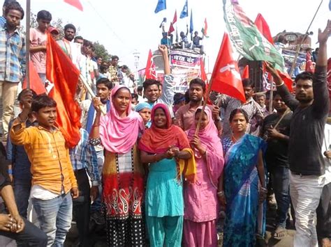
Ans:
{"type": "MultiPolygon", "coordinates": [[[[126,88],[126,86],[115,86],[112,89],[112,97],[121,88],[126,88]]],[[[110,111],[100,119],[101,142],[106,150],[113,153],[125,154],[131,150],[137,142],[139,131],[143,131],[143,129],[144,124],[139,113],[131,110],[131,97],[126,109],[126,117],[119,117],[110,100],[110,111]]]]}

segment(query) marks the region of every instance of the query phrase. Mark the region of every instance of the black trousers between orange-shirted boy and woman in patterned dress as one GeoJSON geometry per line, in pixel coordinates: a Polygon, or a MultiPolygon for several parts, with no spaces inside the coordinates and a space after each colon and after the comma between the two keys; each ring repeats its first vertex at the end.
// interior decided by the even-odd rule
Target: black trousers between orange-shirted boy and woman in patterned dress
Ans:
{"type": "Polygon", "coordinates": [[[73,200],[73,216],[75,217],[80,246],[89,245],[89,215],[91,198],[89,197],[89,177],[86,169],[76,170],[75,177],[78,183],[80,196],[73,200]]]}

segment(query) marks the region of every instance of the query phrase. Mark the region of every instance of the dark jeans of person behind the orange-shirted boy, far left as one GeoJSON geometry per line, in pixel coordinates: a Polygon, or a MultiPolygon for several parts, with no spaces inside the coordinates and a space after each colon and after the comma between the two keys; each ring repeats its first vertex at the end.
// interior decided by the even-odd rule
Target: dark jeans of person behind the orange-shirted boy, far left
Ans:
{"type": "Polygon", "coordinates": [[[20,215],[27,218],[27,208],[31,191],[31,180],[14,179],[14,194],[20,215]]]}

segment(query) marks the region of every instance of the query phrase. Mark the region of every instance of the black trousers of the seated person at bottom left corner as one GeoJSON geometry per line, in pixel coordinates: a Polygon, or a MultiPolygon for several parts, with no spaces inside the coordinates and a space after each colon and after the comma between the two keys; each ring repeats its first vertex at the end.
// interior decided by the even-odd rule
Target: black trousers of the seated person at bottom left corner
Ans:
{"type": "Polygon", "coordinates": [[[0,235],[8,237],[10,239],[15,239],[17,241],[17,246],[36,246],[44,247],[47,246],[47,235],[45,232],[36,227],[26,218],[23,218],[25,227],[22,232],[5,232],[0,230],[0,235]]]}

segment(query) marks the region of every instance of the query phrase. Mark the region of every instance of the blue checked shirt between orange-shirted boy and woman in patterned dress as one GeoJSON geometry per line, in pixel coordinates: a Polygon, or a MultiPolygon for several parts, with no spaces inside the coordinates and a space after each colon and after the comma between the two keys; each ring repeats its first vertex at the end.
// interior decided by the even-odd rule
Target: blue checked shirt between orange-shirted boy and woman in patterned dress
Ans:
{"type": "Polygon", "coordinates": [[[98,186],[98,158],[94,146],[89,144],[89,133],[85,129],[80,129],[80,142],[69,150],[69,154],[73,170],[87,169],[92,185],[98,186]]]}

